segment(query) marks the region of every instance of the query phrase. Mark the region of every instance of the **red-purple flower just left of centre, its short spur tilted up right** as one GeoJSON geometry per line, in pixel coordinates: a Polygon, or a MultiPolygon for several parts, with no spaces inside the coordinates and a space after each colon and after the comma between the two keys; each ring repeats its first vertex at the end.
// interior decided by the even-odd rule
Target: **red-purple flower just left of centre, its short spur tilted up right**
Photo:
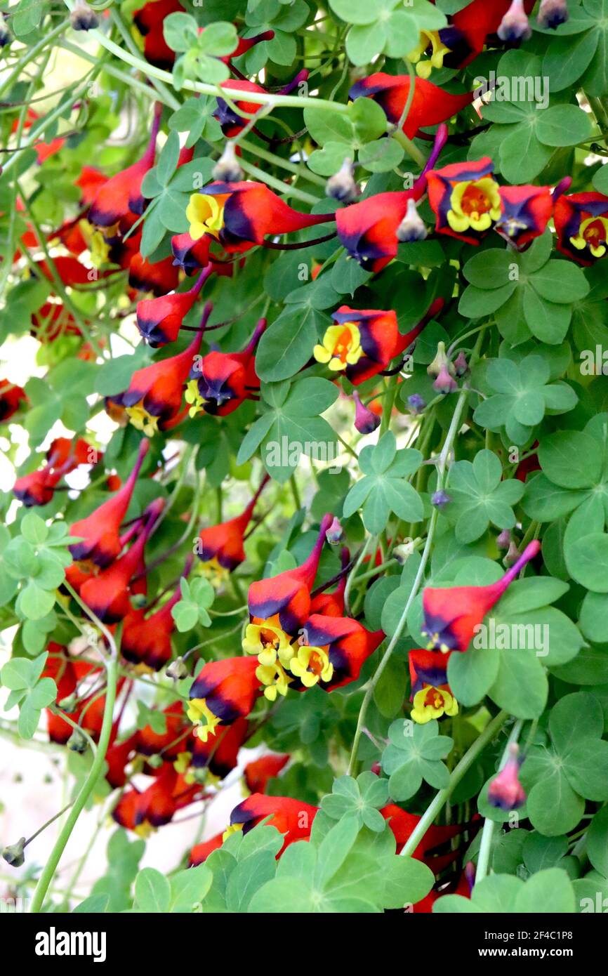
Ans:
{"type": "Polygon", "coordinates": [[[225,417],[260,388],[254,357],[265,327],[266,320],[261,318],[242,352],[208,352],[194,362],[185,393],[186,402],[191,404],[190,417],[199,410],[225,417]]]}

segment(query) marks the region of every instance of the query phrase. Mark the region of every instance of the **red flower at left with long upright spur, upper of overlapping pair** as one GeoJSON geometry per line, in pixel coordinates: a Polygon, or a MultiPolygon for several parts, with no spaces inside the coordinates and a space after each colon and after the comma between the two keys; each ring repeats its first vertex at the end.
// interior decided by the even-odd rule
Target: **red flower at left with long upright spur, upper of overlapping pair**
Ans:
{"type": "Polygon", "coordinates": [[[120,553],[120,525],[125,517],[133,489],[147,454],[148,442],[140,444],[138,459],[131,474],[122,488],[112,495],[107,502],[96,508],[86,518],[81,518],[70,527],[70,536],[83,537],[82,542],[73,543],[69,547],[72,557],[77,562],[90,561],[97,566],[107,566],[120,553]]]}

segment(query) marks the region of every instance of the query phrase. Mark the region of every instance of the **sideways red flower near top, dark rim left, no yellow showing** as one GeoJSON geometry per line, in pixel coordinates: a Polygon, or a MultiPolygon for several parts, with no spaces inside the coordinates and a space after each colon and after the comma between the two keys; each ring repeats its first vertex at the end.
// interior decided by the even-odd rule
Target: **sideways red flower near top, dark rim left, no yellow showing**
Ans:
{"type": "MultiPolygon", "coordinates": [[[[369,96],[374,102],[378,102],[388,121],[396,125],[405,108],[409,91],[409,75],[385,74],[384,71],[379,71],[355,82],[348,92],[348,97],[358,99],[360,96],[369,96]]],[[[451,95],[437,85],[433,85],[432,82],[417,78],[414,97],[403,123],[403,132],[408,139],[414,139],[421,129],[447,122],[474,98],[473,92],[451,95]]]]}

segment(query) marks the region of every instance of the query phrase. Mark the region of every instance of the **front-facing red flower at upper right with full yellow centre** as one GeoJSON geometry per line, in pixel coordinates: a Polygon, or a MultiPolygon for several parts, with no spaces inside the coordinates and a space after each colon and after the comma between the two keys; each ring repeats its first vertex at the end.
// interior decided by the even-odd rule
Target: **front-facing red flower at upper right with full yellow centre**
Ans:
{"type": "Polygon", "coordinates": [[[501,218],[499,184],[488,156],[467,163],[451,163],[428,173],[428,202],[435,230],[478,244],[501,218]]]}

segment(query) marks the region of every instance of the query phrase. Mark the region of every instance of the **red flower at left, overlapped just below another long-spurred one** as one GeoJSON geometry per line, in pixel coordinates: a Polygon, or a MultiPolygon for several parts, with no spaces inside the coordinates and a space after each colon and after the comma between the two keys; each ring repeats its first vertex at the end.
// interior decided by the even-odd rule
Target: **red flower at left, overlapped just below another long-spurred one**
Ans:
{"type": "Polygon", "coordinates": [[[144,546],[163,504],[163,499],[156,499],[148,507],[147,523],[131,549],[81,586],[82,600],[101,621],[115,624],[132,612],[129,584],[141,568],[144,546]]]}

